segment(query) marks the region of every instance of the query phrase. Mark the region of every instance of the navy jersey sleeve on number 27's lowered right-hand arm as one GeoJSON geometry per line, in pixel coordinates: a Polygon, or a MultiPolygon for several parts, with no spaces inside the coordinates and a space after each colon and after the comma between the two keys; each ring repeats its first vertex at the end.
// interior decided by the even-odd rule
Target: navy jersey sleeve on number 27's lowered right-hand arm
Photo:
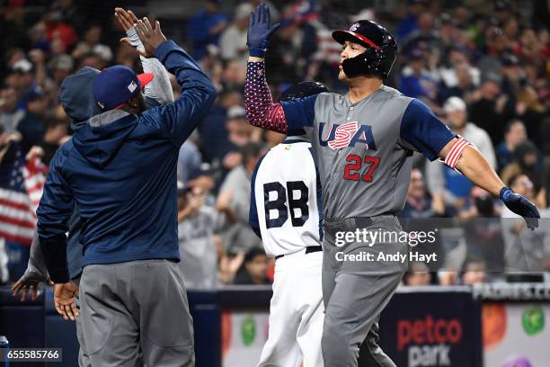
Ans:
{"type": "Polygon", "coordinates": [[[431,161],[438,158],[439,152],[449,141],[457,138],[457,134],[449,130],[426,104],[416,99],[409,103],[404,112],[400,135],[401,139],[431,161]]]}

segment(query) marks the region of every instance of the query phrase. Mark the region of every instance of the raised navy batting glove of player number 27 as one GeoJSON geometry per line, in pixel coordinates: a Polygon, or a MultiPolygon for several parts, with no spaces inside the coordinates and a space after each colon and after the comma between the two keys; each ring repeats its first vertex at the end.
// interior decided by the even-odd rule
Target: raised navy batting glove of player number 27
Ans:
{"type": "Polygon", "coordinates": [[[270,44],[270,38],[277,31],[280,23],[271,26],[270,8],[266,4],[259,4],[256,12],[250,14],[246,45],[250,56],[263,58],[270,44]]]}

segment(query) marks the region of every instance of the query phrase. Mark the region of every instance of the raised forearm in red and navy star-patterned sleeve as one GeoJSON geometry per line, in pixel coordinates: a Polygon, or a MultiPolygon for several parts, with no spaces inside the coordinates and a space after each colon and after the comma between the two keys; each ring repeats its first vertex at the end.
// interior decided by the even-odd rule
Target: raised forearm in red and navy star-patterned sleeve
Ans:
{"type": "Polygon", "coordinates": [[[244,83],[244,106],[246,119],[251,125],[287,133],[285,112],[279,103],[273,103],[270,86],[265,78],[263,58],[249,58],[244,83]]]}

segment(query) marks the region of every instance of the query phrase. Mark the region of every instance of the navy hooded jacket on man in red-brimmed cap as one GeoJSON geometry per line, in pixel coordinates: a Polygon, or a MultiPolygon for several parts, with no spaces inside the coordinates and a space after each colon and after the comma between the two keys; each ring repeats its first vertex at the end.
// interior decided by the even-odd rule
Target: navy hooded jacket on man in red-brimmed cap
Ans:
{"type": "Polygon", "coordinates": [[[67,282],[66,232],[73,212],[87,264],[179,260],[178,152],[208,112],[216,90],[173,41],[155,57],[181,87],[173,103],[139,115],[120,110],[91,118],[53,157],[38,215],[40,246],[53,282],[67,282]]]}

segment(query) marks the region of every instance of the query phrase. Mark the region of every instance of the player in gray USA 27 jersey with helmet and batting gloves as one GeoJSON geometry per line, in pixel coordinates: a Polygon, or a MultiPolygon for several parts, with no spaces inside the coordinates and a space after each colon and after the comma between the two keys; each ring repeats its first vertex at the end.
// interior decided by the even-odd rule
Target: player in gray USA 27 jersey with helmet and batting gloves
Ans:
{"type": "Polygon", "coordinates": [[[412,152],[441,159],[499,196],[529,228],[537,227],[538,210],[505,187],[479,151],[448,130],[424,103],[383,84],[397,45],[375,22],[359,21],[347,31],[333,32],[342,44],[338,77],[349,86],[347,94],[273,103],[263,58],[278,26],[271,26],[265,4],[250,16],[246,112],[248,121],[263,129],[288,134],[308,130],[315,148],[324,200],[324,365],[357,366],[359,344],[365,340],[367,365],[395,366],[377,345],[377,319],[407,264],[376,259],[380,254],[406,255],[407,244],[368,244],[350,236],[354,239],[337,245],[342,245],[342,233],[401,232],[394,214],[404,207],[412,152]],[[359,254],[375,261],[351,261],[349,255],[359,254]]]}

